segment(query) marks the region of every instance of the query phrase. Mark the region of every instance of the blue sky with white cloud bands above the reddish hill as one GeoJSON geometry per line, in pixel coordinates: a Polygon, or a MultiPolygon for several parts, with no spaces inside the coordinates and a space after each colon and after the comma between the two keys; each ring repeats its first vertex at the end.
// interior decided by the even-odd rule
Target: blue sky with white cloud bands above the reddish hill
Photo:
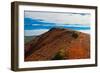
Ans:
{"type": "Polygon", "coordinates": [[[87,32],[90,16],[89,13],[24,11],[24,33],[25,36],[41,35],[53,27],[87,32]]]}

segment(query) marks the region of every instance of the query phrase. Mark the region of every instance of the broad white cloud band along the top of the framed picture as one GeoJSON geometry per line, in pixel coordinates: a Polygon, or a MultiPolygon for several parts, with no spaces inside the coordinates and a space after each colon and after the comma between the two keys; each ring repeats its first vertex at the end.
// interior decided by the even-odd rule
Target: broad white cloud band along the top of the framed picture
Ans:
{"type": "Polygon", "coordinates": [[[90,15],[80,15],[72,13],[53,13],[53,12],[25,12],[25,17],[42,19],[46,22],[57,24],[90,24],[90,15]]]}

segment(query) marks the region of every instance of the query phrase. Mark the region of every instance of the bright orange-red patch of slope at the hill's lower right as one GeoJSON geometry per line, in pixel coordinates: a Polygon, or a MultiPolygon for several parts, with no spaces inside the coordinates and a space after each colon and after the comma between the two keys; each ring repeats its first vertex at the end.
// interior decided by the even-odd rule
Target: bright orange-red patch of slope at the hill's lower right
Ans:
{"type": "Polygon", "coordinates": [[[90,37],[89,35],[80,34],[79,38],[67,48],[68,59],[90,58],[90,37]]]}

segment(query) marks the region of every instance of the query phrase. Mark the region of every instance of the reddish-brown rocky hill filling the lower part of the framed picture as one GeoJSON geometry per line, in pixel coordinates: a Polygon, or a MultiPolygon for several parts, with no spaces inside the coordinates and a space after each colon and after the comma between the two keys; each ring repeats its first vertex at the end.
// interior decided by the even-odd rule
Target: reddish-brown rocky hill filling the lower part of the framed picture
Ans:
{"type": "Polygon", "coordinates": [[[90,36],[85,33],[52,28],[25,44],[25,61],[84,59],[90,57],[90,36]],[[61,51],[62,50],[62,51],[61,51]]]}

